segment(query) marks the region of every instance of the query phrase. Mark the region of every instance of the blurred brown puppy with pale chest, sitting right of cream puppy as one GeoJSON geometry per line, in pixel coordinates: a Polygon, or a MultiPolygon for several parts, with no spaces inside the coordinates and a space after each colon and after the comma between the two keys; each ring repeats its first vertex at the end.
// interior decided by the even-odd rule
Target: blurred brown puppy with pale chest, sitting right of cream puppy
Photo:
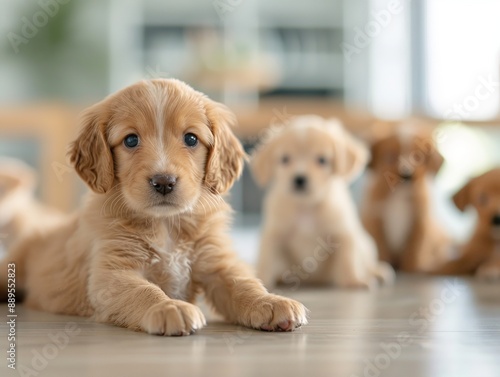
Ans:
{"type": "Polygon", "coordinates": [[[443,157],[432,132],[401,124],[372,146],[363,222],[381,260],[402,271],[430,271],[449,258],[450,241],[433,218],[429,181],[443,157]]]}

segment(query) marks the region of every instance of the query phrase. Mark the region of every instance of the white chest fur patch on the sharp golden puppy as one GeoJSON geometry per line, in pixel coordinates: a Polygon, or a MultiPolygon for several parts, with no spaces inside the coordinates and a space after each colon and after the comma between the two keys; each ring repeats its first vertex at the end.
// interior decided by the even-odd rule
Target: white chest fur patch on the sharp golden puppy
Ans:
{"type": "Polygon", "coordinates": [[[192,245],[169,240],[164,250],[158,252],[158,258],[152,261],[146,278],[157,284],[168,297],[187,300],[191,281],[192,245]]]}

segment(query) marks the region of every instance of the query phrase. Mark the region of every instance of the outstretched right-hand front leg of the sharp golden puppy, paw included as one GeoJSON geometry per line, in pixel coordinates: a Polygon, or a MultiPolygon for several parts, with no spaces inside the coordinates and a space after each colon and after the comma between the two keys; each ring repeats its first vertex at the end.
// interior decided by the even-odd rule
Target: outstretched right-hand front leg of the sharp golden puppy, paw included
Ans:
{"type": "Polygon", "coordinates": [[[292,331],[307,323],[301,303],[268,293],[224,245],[200,250],[192,271],[219,313],[233,323],[265,331],[292,331]]]}

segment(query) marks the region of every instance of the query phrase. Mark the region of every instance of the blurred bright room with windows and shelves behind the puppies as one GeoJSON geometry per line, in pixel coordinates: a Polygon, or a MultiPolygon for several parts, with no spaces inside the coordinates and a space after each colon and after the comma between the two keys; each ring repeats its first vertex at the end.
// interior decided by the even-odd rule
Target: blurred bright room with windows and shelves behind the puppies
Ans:
{"type": "MultiPolygon", "coordinates": [[[[76,208],[76,115],[148,78],[226,103],[249,151],[293,115],[339,117],[368,142],[377,121],[416,116],[446,132],[436,210],[465,235],[473,215],[449,196],[500,162],[499,15],[498,0],[0,0],[0,156],[35,167],[41,200],[76,208]]],[[[262,195],[248,169],[231,193],[249,261],[262,195]]]]}

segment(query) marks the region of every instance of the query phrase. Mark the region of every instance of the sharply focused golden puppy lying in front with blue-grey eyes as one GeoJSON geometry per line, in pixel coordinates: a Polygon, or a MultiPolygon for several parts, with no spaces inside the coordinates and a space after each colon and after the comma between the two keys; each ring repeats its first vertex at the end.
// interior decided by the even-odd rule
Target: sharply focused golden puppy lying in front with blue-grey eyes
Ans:
{"type": "Polygon", "coordinates": [[[244,157],[234,123],[226,107],[178,80],[143,81],[88,109],[69,155],[94,193],[73,221],[4,262],[16,263],[26,304],[187,335],[205,324],[190,303],[204,292],[237,324],[305,324],[304,306],[269,294],[229,246],[221,194],[244,157]]]}

